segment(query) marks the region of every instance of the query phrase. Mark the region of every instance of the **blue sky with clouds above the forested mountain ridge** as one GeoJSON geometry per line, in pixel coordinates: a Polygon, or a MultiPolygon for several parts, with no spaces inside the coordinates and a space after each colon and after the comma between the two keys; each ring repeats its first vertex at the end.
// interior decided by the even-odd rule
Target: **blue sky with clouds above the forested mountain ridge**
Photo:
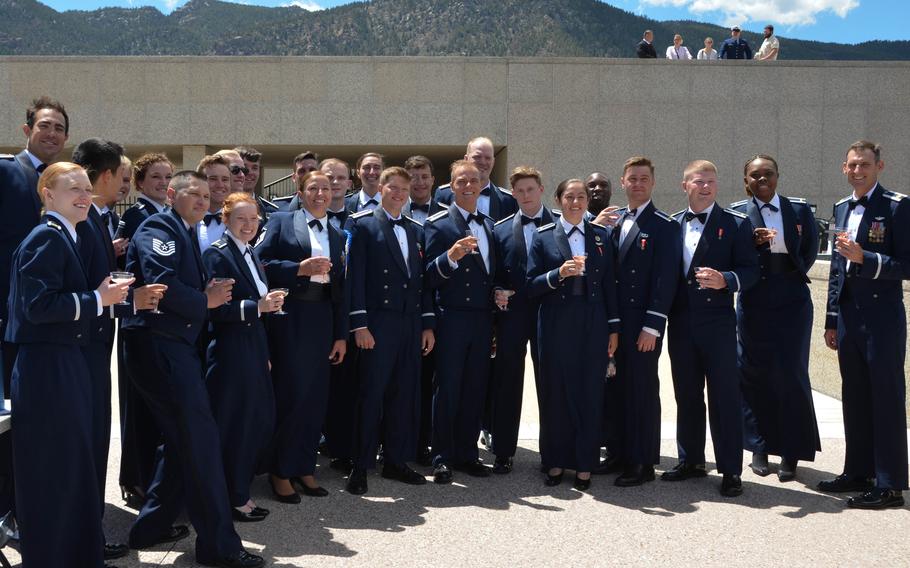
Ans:
{"type": "MultiPolygon", "coordinates": [[[[495,1],[495,0],[490,0],[495,1]]],[[[43,0],[56,10],[94,10],[102,6],[154,6],[168,13],[186,0],[43,0]]],[[[242,0],[244,4],[307,9],[331,8],[349,0],[242,0]]],[[[618,8],[655,20],[698,20],[738,24],[760,32],[774,24],[782,36],[858,43],[873,39],[910,40],[910,2],[906,0],[610,0],[618,8]]]]}

